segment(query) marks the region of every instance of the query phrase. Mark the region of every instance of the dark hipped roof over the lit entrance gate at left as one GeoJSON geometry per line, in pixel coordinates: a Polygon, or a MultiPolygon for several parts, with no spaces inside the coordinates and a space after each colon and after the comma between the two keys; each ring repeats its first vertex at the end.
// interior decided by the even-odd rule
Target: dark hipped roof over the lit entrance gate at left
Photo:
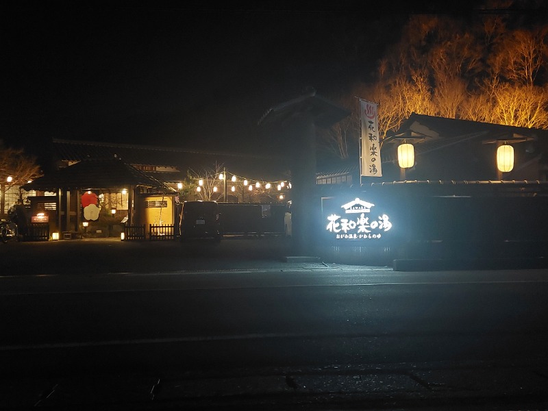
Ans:
{"type": "Polygon", "coordinates": [[[142,186],[169,190],[154,177],[119,159],[84,160],[25,184],[25,190],[115,189],[142,186]]]}

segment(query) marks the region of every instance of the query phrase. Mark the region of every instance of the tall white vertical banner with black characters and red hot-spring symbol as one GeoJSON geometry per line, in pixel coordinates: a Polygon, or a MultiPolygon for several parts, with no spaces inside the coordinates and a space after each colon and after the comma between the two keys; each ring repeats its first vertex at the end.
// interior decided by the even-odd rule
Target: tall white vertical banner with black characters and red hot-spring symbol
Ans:
{"type": "Polygon", "coordinates": [[[377,108],[377,104],[360,99],[360,175],[363,177],[382,177],[377,108]]]}

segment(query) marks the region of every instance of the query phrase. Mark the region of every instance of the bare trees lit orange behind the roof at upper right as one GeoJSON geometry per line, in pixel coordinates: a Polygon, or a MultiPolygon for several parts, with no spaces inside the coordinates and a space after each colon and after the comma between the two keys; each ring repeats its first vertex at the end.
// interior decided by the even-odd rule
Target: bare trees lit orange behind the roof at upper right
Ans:
{"type": "MultiPolygon", "coordinates": [[[[486,7],[512,2],[495,3],[486,7]]],[[[379,104],[381,138],[412,112],[548,128],[548,26],[508,29],[511,18],[410,18],[375,82],[352,90],[379,104]]]]}

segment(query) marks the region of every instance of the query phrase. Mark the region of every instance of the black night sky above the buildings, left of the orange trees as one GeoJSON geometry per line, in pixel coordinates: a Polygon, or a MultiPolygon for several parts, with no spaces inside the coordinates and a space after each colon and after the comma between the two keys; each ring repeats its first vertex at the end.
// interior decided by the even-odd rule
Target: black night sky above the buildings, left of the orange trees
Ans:
{"type": "Polygon", "coordinates": [[[307,86],[329,95],[367,80],[408,12],[428,7],[79,3],[0,6],[6,144],[38,153],[51,138],[248,147],[271,106],[307,86]]]}

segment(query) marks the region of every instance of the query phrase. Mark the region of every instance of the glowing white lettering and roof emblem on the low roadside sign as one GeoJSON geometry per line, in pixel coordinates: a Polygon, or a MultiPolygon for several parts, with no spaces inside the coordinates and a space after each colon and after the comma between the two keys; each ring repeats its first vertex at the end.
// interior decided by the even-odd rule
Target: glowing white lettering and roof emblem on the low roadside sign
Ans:
{"type": "Polygon", "coordinates": [[[325,229],[340,240],[382,238],[383,234],[392,228],[392,223],[386,214],[371,217],[371,208],[374,206],[375,204],[360,199],[343,204],[340,208],[345,210],[345,215],[333,213],[327,216],[328,223],[325,229]]]}

